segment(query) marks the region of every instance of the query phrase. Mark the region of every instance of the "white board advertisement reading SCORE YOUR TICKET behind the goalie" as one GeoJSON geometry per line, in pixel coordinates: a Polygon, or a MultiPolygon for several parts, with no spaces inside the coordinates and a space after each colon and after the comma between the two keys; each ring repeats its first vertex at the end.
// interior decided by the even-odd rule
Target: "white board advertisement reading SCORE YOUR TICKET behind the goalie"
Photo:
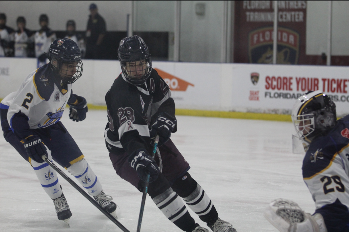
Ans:
{"type": "Polygon", "coordinates": [[[333,99],[339,116],[349,113],[348,67],[296,67],[235,65],[232,108],[245,112],[291,114],[298,97],[308,91],[321,90],[333,99]]]}

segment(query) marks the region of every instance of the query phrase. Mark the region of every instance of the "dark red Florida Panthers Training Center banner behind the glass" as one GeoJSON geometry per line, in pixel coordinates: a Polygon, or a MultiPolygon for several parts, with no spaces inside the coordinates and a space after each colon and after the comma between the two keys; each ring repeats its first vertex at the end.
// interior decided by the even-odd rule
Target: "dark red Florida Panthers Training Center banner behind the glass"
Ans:
{"type": "MultiPolygon", "coordinates": [[[[277,1],[278,64],[305,56],[306,1],[277,1]]],[[[274,1],[235,1],[234,62],[273,63],[274,1]]]]}

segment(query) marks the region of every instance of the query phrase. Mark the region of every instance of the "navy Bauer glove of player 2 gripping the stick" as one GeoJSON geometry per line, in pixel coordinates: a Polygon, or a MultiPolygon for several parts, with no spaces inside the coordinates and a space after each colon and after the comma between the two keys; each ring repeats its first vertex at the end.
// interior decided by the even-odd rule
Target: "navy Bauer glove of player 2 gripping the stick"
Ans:
{"type": "Polygon", "coordinates": [[[28,156],[38,163],[43,163],[44,160],[41,158],[42,155],[47,156],[47,149],[44,143],[41,141],[40,137],[33,135],[28,137],[28,139],[23,139],[24,148],[27,151],[28,156]]]}

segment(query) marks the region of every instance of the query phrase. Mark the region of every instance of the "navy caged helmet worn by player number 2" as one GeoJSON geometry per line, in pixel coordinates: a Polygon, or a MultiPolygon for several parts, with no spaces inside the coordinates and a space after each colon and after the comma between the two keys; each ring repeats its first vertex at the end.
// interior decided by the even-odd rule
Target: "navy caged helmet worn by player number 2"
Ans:
{"type": "Polygon", "coordinates": [[[64,83],[72,84],[82,75],[83,64],[80,48],[71,39],[54,40],[50,46],[49,60],[64,83]],[[71,66],[72,64],[75,66],[71,66]]]}

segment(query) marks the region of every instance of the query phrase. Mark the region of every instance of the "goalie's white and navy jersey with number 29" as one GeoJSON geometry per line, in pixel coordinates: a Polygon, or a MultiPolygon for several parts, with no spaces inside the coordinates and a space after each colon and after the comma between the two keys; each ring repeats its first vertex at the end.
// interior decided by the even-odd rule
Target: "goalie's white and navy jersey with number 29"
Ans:
{"type": "Polygon", "coordinates": [[[302,170],[315,213],[324,217],[329,232],[342,231],[349,223],[349,115],[311,142],[302,170]]]}

